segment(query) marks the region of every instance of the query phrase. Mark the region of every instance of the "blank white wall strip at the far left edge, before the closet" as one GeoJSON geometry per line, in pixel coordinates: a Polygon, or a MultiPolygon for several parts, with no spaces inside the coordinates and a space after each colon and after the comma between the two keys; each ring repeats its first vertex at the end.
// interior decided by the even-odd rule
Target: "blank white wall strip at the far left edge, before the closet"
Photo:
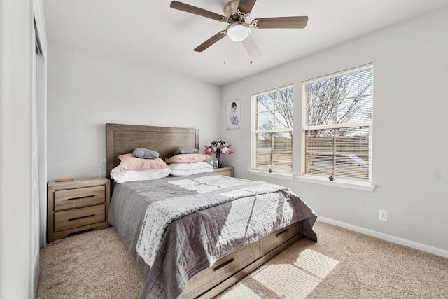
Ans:
{"type": "Polygon", "coordinates": [[[31,1],[0,0],[0,298],[29,298],[31,1]]]}

